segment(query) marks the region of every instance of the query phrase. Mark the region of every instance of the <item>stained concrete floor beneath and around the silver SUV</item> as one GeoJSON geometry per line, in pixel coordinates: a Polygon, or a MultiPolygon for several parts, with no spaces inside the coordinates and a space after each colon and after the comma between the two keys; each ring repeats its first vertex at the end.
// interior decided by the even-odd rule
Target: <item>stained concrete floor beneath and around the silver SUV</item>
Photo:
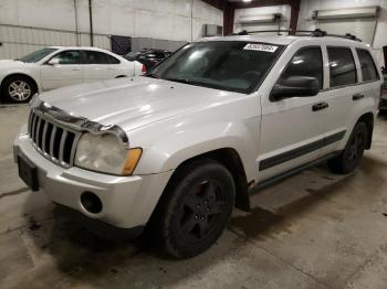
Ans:
{"type": "Polygon", "coordinates": [[[166,259],[101,240],[17,175],[28,107],[0,107],[1,288],[387,288],[387,117],[351,175],[325,167],[255,194],[206,254],[166,259]]]}

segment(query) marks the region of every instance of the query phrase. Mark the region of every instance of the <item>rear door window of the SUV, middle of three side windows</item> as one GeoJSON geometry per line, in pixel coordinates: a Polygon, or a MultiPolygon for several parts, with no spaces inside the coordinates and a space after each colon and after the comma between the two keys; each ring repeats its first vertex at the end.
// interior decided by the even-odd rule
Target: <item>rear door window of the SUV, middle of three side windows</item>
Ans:
{"type": "Polygon", "coordinates": [[[331,87],[357,83],[356,66],[351,49],[327,47],[331,87]]]}

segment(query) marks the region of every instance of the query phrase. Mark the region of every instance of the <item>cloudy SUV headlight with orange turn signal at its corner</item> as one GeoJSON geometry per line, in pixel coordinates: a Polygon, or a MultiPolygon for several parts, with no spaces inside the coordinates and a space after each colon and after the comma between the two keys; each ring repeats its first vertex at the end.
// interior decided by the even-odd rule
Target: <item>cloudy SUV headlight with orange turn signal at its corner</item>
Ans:
{"type": "Polygon", "coordinates": [[[130,175],[140,157],[142,149],[126,149],[112,133],[84,133],[77,143],[74,163],[86,170],[130,175]]]}

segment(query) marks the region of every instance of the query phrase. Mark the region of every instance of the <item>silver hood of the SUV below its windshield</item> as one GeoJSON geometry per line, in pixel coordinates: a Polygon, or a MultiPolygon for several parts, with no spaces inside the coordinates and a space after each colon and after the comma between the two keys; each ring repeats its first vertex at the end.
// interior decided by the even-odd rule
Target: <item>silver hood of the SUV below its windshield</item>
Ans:
{"type": "Polygon", "coordinates": [[[60,88],[40,98],[74,116],[129,131],[240,96],[149,77],[124,77],[60,88]]]}

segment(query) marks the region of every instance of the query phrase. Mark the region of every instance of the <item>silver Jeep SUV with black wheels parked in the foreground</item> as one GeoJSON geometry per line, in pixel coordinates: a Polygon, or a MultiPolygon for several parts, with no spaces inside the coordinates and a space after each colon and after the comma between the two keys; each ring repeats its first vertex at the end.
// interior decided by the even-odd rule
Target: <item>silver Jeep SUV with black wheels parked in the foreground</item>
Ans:
{"type": "Polygon", "coordinates": [[[352,172],[370,148],[380,85],[358,41],[200,40],[146,76],[34,97],[15,161],[32,191],[97,233],[147,226],[167,253],[191,257],[234,205],[249,210],[249,192],[322,161],[352,172]]]}

